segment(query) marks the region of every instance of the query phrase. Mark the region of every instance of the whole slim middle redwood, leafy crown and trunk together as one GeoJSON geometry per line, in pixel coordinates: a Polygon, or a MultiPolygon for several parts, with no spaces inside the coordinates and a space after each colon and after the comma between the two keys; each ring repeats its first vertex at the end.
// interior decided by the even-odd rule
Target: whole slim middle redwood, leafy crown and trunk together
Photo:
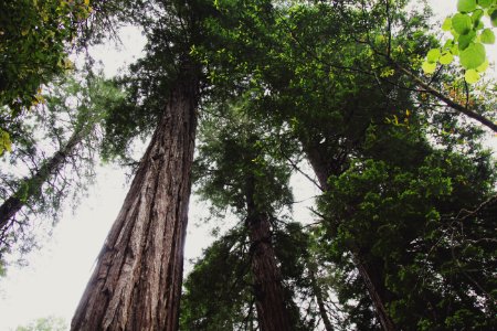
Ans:
{"type": "Polygon", "coordinates": [[[230,206],[245,225],[261,330],[295,330],[298,320],[290,316],[292,302],[285,295],[273,237],[275,213],[292,201],[290,169],[269,151],[274,132],[251,120],[244,104],[229,105],[221,111],[223,119],[203,120],[200,193],[221,210],[230,206]]]}

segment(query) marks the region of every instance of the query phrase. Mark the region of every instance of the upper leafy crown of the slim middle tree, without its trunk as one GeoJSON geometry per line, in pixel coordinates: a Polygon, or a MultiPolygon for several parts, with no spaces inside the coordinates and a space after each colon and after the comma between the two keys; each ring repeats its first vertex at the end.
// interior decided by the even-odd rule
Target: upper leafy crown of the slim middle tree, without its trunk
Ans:
{"type": "Polygon", "coordinates": [[[229,105],[219,117],[202,120],[194,170],[199,193],[214,206],[230,206],[242,217],[246,216],[247,177],[255,180],[255,204],[261,211],[274,214],[293,202],[288,188],[292,171],[282,153],[292,154],[295,147],[278,146],[278,134],[251,120],[247,106],[248,102],[229,105]]]}

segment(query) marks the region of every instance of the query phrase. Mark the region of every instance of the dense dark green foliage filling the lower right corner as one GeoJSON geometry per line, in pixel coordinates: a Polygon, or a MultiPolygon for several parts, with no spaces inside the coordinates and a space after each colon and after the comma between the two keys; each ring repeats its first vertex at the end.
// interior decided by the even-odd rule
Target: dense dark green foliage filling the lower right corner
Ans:
{"type": "Polygon", "coordinates": [[[360,252],[384,281],[390,314],[406,330],[495,323],[488,243],[495,211],[459,218],[495,194],[488,154],[477,154],[391,150],[383,160],[355,161],[330,179],[322,197],[329,257],[351,273],[347,252],[360,252]]]}

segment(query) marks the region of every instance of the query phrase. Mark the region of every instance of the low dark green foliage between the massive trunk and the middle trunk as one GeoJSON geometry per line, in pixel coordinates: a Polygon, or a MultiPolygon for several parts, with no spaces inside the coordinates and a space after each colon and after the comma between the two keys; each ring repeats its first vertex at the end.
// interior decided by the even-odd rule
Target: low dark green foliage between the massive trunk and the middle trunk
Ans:
{"type": "Polygon", "coordinates": [[[237,330],[256,323],[248,246],[239,228],[214,242],[184,281],[181,330],[237,330]]]}

